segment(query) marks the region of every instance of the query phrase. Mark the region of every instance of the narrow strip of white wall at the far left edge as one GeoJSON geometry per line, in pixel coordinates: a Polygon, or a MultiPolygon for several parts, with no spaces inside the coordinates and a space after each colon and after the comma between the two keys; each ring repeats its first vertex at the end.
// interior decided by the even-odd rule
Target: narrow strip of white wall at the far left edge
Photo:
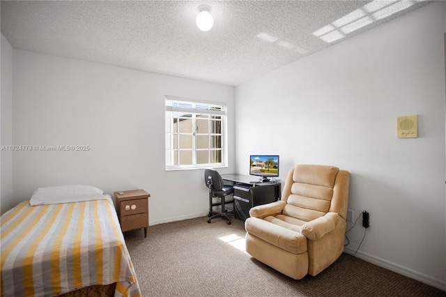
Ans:
{"type": "MultiPolygon", "coordinates": [[[[1,34],[1,146],[13,144],[13,47],[1,34]]],[[[4,147],[3,147],[4,148],[4,147]]],[[[13,152],[1,150],[0,213],[15,205],[13,200],[13,152]]]]}

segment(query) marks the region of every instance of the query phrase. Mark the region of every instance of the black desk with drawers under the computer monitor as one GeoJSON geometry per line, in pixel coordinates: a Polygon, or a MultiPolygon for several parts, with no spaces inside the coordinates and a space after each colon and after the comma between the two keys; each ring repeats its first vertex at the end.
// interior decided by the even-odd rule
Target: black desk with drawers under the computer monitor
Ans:
{"type": "Polygon", "coordinates": [[[280,182],[260,183],[259,178],[243,174],[222,174],[224,181],[234,185],[234,213],[236,219],[249,218],[249,209],[280,199],[280,182]]]}

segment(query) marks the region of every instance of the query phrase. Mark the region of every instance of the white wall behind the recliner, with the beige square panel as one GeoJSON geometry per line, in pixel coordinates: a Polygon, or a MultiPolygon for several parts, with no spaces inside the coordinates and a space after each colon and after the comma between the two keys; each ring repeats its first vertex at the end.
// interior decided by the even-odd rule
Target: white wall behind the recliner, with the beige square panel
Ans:
{"type": "MultiPolygon", "coordinates": [[[[250,153],[278,153],[282,179],[302,163],[347,169],[348,208],[370,213],[357,256],[442,289],[444,17],[431,3],[236,88],[238,172],[250,153]],[[397,139],[397,116],[412,114],[419,137],[397,139]]],[[[359,220],[346,251],[363,234],[359,220]]]]}

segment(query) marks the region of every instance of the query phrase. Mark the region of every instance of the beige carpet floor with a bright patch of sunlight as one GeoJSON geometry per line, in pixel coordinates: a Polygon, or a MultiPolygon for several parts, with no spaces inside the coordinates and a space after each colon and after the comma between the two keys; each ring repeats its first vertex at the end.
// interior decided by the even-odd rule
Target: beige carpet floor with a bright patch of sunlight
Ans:
{"type": "Polygon", "coordinates": [[[293,280],[236,246],[243,222],[196,218],[125,233],[143,296],[446,296],[349,254],[316,277],[293,280]],[[222,238],[222,239],[220,239],[222,238]]]}

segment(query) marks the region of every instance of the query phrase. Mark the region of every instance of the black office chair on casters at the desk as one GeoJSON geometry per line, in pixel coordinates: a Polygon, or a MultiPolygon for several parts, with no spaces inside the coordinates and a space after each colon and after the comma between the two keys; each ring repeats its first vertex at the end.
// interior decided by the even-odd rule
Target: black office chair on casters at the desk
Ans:
{"type": "Polygon", "coordinates": [[[233,186],[225,185],[222,176],[215,169],[204,169],[204,183],[209,189],[208,223],[215,218],[224,218],[226,224],[231,224],[231,218],[228,216],[225,205],[233,203],[233,199],[226,200],[227,195],[234,193],[233,186]],[[219,198],[220,202],[213,202],[213,198],[219,198]],[[220,211],[213,211],[213,206],[221,206],[220,211]]]}

